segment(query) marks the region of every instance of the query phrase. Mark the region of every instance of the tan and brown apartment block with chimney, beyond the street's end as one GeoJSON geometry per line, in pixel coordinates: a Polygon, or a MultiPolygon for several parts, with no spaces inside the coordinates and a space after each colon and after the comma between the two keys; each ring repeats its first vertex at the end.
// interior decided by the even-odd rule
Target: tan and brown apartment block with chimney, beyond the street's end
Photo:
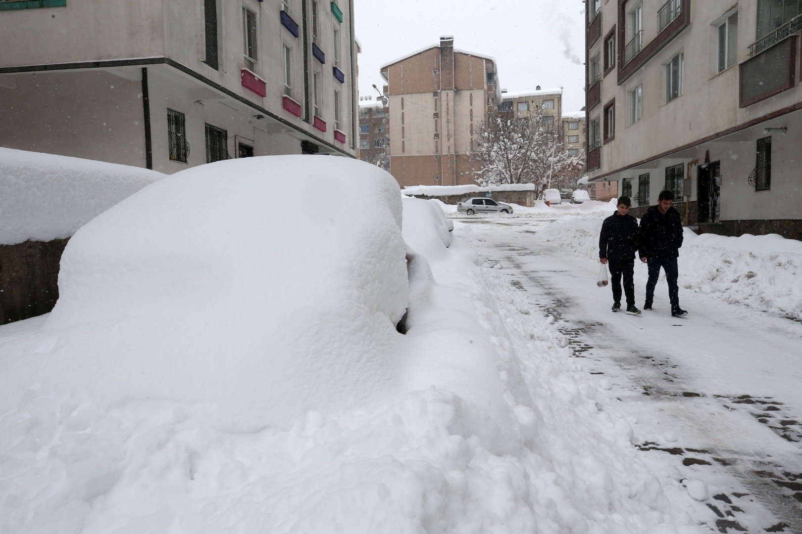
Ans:
{"type": "Polygon", "coordinates": [[[390,170],[401,187],[475,183],[474,130],[501,101],[496,62],[454,38],[381,67],[390,114],[390,170]]]}

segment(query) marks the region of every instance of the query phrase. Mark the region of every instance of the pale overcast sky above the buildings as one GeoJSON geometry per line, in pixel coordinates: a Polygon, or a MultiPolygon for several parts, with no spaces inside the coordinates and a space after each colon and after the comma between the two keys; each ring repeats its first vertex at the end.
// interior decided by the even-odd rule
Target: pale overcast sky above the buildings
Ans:
{"type": "Polygon", "coordinates": [[[496,58],[502,89],[563,86],[563,111],[578,111],[585,105],[584,9],[581,0],[355,0],[359,94],[376,96],[379,66],[448,34],[456,48],[496,58]]]}

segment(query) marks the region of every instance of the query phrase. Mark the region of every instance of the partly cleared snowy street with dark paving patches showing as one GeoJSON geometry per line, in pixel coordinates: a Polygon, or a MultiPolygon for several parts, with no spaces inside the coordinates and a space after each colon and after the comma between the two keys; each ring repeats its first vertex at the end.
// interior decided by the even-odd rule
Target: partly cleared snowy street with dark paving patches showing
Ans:
{"type": "MultiPolygon", "coordinates": [[[[802,532],[802,323],[682,285],[689,315],[674,319],[664,278],[654,311],[613,314],[610,288],[596,287],[598,263],[541,239],[552,220],[455,222],[485,267],[553,317],[646,461],[710,508],[708,526],[802,532]]],[[[645,271],[638,262],[638,307],[645,271]]]]}

